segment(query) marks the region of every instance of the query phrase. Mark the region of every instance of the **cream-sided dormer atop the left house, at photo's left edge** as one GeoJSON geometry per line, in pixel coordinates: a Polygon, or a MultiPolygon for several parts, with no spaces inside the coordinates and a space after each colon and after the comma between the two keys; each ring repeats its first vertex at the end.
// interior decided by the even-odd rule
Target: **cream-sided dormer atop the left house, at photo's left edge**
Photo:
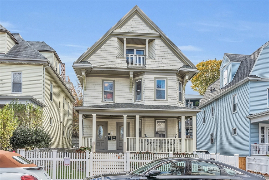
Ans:
{"type": "Polygon", "coordinates": [[[1,54],[8,53],[9,50],[15,44],[18,44],[18,42],[14,38],[14,36],[9,32],[9,30],[0,25],[0,53],[1,54]]]}

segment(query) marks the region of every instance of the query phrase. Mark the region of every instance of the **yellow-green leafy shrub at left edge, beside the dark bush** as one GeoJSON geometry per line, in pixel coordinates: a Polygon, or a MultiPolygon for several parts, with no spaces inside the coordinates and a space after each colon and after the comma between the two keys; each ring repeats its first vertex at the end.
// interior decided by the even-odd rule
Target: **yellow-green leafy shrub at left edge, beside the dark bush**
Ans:
{"type": "Polygon", "coordinates": [[[9,149],[9,140],[17,124],[17,118],[14,117],[12,109],[8,106],[0,109],[0,150],[9,149]]]}

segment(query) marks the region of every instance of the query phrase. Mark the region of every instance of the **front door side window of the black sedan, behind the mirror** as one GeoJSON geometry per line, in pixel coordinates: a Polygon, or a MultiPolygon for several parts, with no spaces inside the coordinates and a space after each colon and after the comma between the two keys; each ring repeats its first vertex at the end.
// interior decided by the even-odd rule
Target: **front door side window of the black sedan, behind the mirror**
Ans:
{"type": "Polygon", "coordinates": [[[161,171],[159,176],[184,175],[185,165],[186,161],[169,161],[155,169],[161,171]]]}

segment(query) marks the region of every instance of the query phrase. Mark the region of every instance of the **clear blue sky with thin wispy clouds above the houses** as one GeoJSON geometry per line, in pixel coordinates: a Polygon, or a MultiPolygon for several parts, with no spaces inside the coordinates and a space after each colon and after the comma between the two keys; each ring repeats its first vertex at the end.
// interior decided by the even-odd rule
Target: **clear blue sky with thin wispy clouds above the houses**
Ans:
{"type": "MultiPolygon", "coordinates": [[[[269,1],[4,1],[0,23],[27,41],[45,41],[73,62],[138,5],[194,63],[251,54],[269,40],[269,1]]],[[[186,94],[198,94],[186,86],[186,94]]]]}

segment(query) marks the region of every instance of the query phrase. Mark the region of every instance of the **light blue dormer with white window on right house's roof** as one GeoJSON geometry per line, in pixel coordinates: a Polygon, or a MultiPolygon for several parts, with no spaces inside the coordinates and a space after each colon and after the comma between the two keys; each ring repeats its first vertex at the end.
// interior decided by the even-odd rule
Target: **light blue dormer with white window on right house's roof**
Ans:
{"type": "Polygon", "coordinates": [[[249,55],[225,53],[220,66],[220,88],[231,83],[240,63],[249,55]]]}

